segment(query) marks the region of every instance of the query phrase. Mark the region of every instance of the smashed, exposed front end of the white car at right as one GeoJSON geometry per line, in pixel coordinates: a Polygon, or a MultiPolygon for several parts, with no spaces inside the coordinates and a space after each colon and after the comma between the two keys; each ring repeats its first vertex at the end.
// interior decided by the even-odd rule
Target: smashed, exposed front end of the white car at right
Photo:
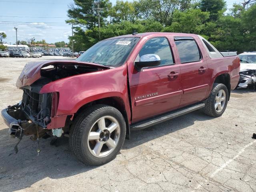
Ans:
{"type": "Polygon", "coordinates": [[[248,86],[253,86],[254,90],[256,89],[256,70],[241,70],[239,74],[238,87],[247,88],[248,86]]]}

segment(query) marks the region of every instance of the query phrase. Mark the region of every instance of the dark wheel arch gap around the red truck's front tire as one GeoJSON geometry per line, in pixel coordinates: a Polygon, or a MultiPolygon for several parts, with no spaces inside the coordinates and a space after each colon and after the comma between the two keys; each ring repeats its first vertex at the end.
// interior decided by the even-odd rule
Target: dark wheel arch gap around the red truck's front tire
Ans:
{"type": "Polygon", "coordinates": [[[124,100],[120,97],[117,96],[113,96],[113,97],[106,97],[106,98],[101,98],[98,100],[94,100],[92,102],[88,102],[86,104],[84,104],[83,106],[81,106],[77,112],[74,114],[74,118],[76,118],[76,116],[83,110],[85,110],[86,108],[93,106],[95,104],[105,104],[105,105],[109,105],[112,106],[114,108],[116,108],[117,110],[119,110],[121,112],[121,114],[124,117],[124,120],[126,122],[126,138],[130,139],[130,124],[128,121],[128,115],[126,113],[126,108],[125,108],[125,104],[124,104],[124,100]]]}

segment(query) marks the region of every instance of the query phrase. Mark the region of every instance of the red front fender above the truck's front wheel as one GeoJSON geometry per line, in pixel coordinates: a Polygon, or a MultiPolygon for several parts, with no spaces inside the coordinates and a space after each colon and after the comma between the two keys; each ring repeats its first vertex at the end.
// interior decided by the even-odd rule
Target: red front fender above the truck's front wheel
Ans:
{"type": "Polygon", "coordinates": [[[59,92],[56,115],[74,114],[81,106],[107,97],[120,97],[124,101],[128,119],[131,114],[126,64],[118,68],[80,74],[50,82],[40,90],[40,93],[47,92],[59,92]]]}

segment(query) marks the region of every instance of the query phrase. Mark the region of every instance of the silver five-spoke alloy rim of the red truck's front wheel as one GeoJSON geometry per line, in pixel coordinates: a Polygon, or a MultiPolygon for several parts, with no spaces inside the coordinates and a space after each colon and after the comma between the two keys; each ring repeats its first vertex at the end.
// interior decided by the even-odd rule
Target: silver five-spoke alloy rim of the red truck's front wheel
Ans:
{"type": "Polygon", "coordinates": [[[108,156],[120,138],[120,125],[116,118],[103,116],[90,128],[87,144],[90,153],[98,158],[108,156]]]}

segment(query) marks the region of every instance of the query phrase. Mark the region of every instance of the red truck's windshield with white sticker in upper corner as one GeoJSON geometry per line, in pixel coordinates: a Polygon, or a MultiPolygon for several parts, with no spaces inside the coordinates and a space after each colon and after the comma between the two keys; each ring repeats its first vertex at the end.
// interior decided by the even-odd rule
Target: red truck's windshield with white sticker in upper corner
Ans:
{"type": "Polygon", "coordinates": [[[139,39],[137,37],[128,37],[104,40],[89,48],[76,60],[118,67],[124,64],[139,39]]]}

